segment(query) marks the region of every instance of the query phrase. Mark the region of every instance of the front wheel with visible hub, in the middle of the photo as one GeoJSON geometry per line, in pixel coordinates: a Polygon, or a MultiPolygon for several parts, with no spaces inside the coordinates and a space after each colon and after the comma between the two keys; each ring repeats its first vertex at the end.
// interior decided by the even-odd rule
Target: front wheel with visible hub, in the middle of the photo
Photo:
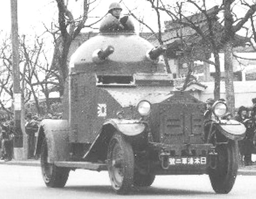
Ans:
{"type": "Polygon", "coordinates": [[[113,189],[118,194],[127,193],[133,184],[134,155],[123,135],[114,134],[108,146],[107,160],[113,189]]]}

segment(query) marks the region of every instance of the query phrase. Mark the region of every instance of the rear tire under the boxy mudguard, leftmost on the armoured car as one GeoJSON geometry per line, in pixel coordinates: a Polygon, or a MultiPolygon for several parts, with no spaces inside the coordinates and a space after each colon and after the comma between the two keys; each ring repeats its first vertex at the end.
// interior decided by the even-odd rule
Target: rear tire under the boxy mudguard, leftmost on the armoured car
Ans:
{"type": "Polygon", "coordinates": [[[47,187],[64,187],[68,179],[70,169],[49,164],[47,163],[47,159],[48,147],[46,138],[44,138],[41,148],[41,170],[44,182],[47,187]]]}

